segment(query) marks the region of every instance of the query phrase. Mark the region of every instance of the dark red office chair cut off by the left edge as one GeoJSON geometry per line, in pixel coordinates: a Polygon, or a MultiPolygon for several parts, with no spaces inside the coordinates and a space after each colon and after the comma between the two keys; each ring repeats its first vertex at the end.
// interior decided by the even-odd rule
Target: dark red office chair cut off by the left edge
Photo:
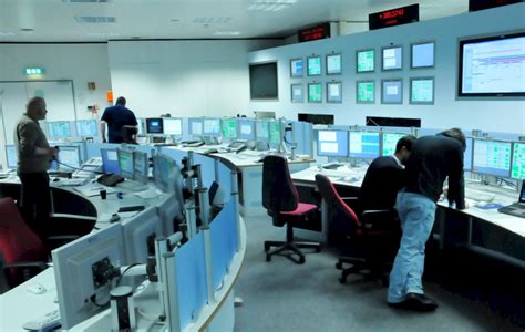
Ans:
{"type": "Polygon", "coordinates": [[[49,252],[12,198],[0,199],[0,266],[4,283],[12,288],[47,269],[49,252]]]}

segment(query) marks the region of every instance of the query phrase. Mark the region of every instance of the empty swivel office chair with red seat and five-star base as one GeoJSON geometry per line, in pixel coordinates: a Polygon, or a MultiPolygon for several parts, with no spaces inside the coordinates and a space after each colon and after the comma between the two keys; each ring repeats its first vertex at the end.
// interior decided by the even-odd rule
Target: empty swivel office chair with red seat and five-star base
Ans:
{"type": "Polygon", "coordinates": [[[266,156],[262,162],[262,206],[271,216],[274,226],[286,225],[286,241],[265,241],[266,261],[271,261],[274,255],[288,251],[286,257],[301,264],[305,263],[305,255],[300,248],[311,248],[316,252],[321,251],[319,243],[294,241],[294,227],[310,220],[319,220],[319,210],[312,204],[299,201],[286,157],[270,155],[266,156]],[[271,247],[277,248],[270,250],[271,247]],[[294,253],[299,259],[295,259],[294,253]]]}

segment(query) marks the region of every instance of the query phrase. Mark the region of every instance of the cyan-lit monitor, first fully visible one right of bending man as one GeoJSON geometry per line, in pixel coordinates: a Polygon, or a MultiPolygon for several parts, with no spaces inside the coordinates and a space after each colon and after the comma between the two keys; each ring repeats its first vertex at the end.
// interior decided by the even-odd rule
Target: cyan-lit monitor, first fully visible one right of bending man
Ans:
{"type": "Polygon", "coordinates": [[[512,143],[474,139],[472,172],[500,177],[511,175],[512,143]]]}

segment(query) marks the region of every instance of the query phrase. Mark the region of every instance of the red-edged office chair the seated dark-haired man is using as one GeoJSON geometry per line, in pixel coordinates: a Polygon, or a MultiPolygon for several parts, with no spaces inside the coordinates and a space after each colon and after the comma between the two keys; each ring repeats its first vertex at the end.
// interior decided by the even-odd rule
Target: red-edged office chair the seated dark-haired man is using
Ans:
{"type": "Polygon", "coordinates": [[[370,277],[381,279],[383,286],[388,284],[389,262],[397,252],[399,235],[392,230],[395,212],[392,210],[364,210],[359,217],[344,201],[356,201],[357,198],[339,196],[330,179],[316,175],[316,185],[327,206],[330,232],[344,236],[351,249],[357,255],[339,257],[336,268],[342,270],[339,281],[344,283],[351,273],[370,271],[370,277]],[[398,241],[398,242],[397,242],[398,241]],[[343,264],[351,267],[343,269],[343,264]]]}

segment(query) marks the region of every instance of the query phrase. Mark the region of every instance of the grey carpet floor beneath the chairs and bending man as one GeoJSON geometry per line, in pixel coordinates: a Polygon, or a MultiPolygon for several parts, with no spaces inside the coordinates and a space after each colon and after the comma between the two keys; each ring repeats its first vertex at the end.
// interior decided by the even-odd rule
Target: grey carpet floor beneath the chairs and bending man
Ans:
{"type": "Polygon", "coordinates": [[[281,240],[285,228],[269,217],[246,218],[247,253],[235,294],[237,332],[256,331],[523,331],[488,305],[469,300],[437,283],[425,292],[440,308],[432,313],[393,310],[385,304],[387,288],[360,276],[338,281],[337,252],[323,248],[306,263],[284,257],[265,261],[262,242],[281,240]]]}

